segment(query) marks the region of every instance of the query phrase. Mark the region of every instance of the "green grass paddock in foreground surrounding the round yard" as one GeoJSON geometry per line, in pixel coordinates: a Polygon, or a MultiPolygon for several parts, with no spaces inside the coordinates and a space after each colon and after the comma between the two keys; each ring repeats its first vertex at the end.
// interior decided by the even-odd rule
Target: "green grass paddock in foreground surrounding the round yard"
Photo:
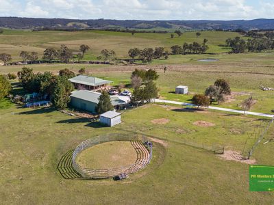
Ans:
{"type": "MultiPolygon", "coordinates": [[[[247,133],[260,125],[258,118],[223,113],[188,113],[149,105],[123,113],[114,128],[99,126],[52,109],[0,109],[0,197],[2,204],[271,204],[273,193],[251,193],[249,165],[224,161],[206,150],[180,143],[187,138],[224,143],[241,150],[247,133]],[[168,124],[150,121],[168,118],[168,124]],[[4,120],[3,120],[4,119],[4,120]],[[198,127],[206,120],[213,127],[198,127]],[[226,123],[225,123],[226,122],[226,123]],[[242,126],[244,124],[244,126],[242,126]],[[177,129],[185,133],[176,133],[177,129]],[[237,129],[232,131],[231,129],[237,129]],[[129,179],[65,180],[58,172],[61,156],[77,144],[124,129],[164,139],[153,143],[153,159],[129,179]],[[234,132],[234,134],[232,133],[234,132]],[[240,132],[240,133],[239,133],[240,132]],[[242,133],[241,133],[242,132],[242,133]]],[[[257,162],[274,165],[272,143],[259,146],[257,162]]]]}

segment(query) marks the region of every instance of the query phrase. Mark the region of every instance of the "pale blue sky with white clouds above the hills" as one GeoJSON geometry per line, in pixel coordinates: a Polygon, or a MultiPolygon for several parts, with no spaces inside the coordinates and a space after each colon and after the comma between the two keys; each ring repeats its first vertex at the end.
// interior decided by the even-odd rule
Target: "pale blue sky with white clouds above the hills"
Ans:
{"type": "Polygon", "coordinates": [[[274,0],[0,0],[0,16],[249,20],[274,18],[274,0]]]}

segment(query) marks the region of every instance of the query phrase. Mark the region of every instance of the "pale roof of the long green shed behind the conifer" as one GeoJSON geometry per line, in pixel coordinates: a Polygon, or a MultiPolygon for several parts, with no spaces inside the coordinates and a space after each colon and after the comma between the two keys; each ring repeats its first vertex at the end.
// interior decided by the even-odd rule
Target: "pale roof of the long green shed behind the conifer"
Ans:
{"type": "MultiPolygon", "coordinates": [[[[96,104],[98,104],[98,102],[99,102],[99,96],[101,96],[101,93],[93,92],[93,91],[89,91],[89,90],[75,90],[71,94],[71,97],[73,97],[73,98],[79,98],[79,99],[86,100],[89,102],[94,102],[96,104]]],[[[110,96],[110,100],[111,100],[113,106],[126,103],[124,100],[121,100],[120,98],[118,98],[116,96],[110,96]]]]}

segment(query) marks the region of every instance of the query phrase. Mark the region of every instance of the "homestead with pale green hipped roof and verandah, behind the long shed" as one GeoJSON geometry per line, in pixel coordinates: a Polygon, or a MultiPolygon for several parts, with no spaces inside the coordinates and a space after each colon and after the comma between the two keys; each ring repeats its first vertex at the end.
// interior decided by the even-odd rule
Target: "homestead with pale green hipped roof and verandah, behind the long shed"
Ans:
{"type": "Polygon", "coordinates": [[[106,81],[103,79],[99,79],[97,77],[88,77],[85,75],[78,75],[72,79],[69,79],[71,83],[77,89],[86,89],[86,90],[102,90],[105,89],[112,83],[112,81],[106,81]]]}

